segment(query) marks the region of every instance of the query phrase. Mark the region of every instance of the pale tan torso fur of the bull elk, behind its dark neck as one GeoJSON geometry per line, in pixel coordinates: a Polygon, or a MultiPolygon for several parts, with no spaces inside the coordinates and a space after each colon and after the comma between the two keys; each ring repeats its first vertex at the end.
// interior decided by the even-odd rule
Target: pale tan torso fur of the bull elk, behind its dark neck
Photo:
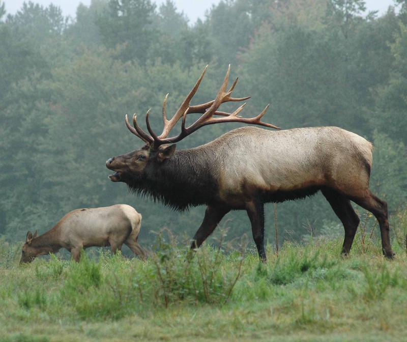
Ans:
{"type": "Polygon", "coordinates": [[[281,131],[244,127],[201,148],[213,149],[217,156],[219,195],[225,202],[243,205],[251,192],[291,192],[310,186],[355,196],[369,186],[365,163],[372,164],[372,145],[338,127],[281,131]]]}

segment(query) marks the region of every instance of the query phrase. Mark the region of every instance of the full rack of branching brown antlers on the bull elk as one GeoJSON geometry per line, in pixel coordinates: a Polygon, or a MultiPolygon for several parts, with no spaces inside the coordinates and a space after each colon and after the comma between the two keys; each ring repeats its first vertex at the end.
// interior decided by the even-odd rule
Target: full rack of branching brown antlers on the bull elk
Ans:
{"type": "Polygon", "coordinates": [[[227,68],[226,76],[223,80],[222,86],[220,87],[220,89],[218,91],[218,94],[216,95],[216,98],[207,103],[202,103],[199,105],[191,106],[190,101],[193,98],[193,96],[195,95],[195,93],[199,87],[200,81],[202,80],[203,76],[205,75],[207,69],[208,69],[208,66],[205,67],[202,74],[200,75],[197,82],[195,83],[195,86],[192,88],[192,90],[190,91],[188,96],[182,102],[180,108],[178,108],[177,112],[170,120],[167,120],[167,115],[166,115],[166,111],[165,111],[168,94],[165,96],[163,107],[162,107],[162,117],[163,117],[164,129],[160,135],[157,136],[157,134],[154,133],[154,131],[152,130],[152,128],[150,126],[150,122],[149,122],[150,110],[147,112],[147,115],[146,115],[146,124],[147,124],[147,129],[151,135],[144,132],[138,126],[135,115],[133,115],[134,128],[130,126],[130,124],[127,120],[127,116],[126,116],[126,125],[127,125],[128,129],[133,134],[135,134],[140,139],[142,139],[145,143],[153,144],[154,147],[158,147],[162,144],[176,143],[177,141],[182,140],[187,135],[195,132],[197,129],[199,129],[202,126],[212,125],[212,124],[217,124],[217,123],[222,123],[222,122],[242,122],[242,123],[247,123],[247,124],[256,124],[256,125],[271,127],[271,128],[275,128],[275,129],[280,129],[277,126],[262,122],[260,120],[265,115],[269,105],[267,105],[266,108],[258,116],[254,117],[254,118],[242,118],[239,116],[239,113],[243,110],[246,103],[242,104],[239,108],[237,108],[232,113],[218,111],[218,108],[222,103],[244,101],[244,100],[247,100],[250,98],[250,96],[242,97],[242,98],[231,97],[231,93],[235,89],[236,83],[238,82],[238,78],[236,78],[235,82],[232,84],[230,89],[226,92],[227,82],[228,82],[229,73],[230,73],[230,65],[227,68]],[[203,113],[203,115],[198,120],[196,120],[191,126],[185,127],[186,116],[190,113],[203,113]],[[222,118],[214,118],[213,117],[214,115],[221,116],[222,118]],[[168,136],[169,132],[181,118],[182,118],[181,133],[178,134],[177,136],[168,138],[167,136],[168,136]]]}

